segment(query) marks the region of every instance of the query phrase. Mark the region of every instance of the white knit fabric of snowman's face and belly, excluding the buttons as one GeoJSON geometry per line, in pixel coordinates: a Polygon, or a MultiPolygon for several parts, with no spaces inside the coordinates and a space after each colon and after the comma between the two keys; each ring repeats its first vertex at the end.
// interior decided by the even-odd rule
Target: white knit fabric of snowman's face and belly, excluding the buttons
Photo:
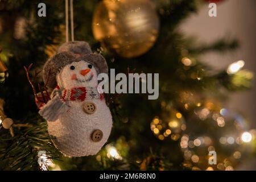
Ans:
{"type": "MultiPolygon", "coordinates": [[[[97,86],[96,69],[91,68],[89,73],[81,75],[81,71],[88,69],[88,65],[85,61],[66,65],[56,76],[57,84],[61,89],[97,86]],[[71,69],[71,66],[75,69],[71,69]]],[[[56,137],[53,140],[55,146],[64,155],[70,157],[97,154],[108,140],[112,129],[112,115],[105,100],[85,99],[83,102],[66,102],[70,106],[67,113],[60,115],[56,121],[48,121],[48,132],[56,137]],[[84,102],[93,102],[96,105],[96,111],[93,114],[85,113],[84,102]],[[99,142],[93,142],[91,139],[94,130],[101,130],[103,133],[103,138],[99,142]]]]}

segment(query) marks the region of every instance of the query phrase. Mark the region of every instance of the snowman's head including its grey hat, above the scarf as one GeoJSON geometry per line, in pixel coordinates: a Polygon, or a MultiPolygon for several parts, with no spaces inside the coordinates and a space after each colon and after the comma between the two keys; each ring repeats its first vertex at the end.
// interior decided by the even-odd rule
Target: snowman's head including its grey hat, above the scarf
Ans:
{"type": "Polygon", "coordinates": [[[93,53],[86,42],[67,42],[60,46],[43,69],[43,79],[48,88],[69,89],[97,86],[97,75],[108,73],[108,64],[103,56],[93,53]]]}

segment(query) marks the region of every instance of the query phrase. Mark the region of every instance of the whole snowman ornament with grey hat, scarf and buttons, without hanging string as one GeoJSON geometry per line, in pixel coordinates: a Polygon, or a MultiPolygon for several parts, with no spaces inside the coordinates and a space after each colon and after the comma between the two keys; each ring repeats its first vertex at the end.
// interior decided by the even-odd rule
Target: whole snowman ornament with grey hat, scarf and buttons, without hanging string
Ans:
{"type": "Polygon", "coordinates": [[[53,91],[39,114],[65,156],[95,155],[109,138],[112,115],[98,92],[100,73],[108,73],[106,60],[86,42],[63,44],[44,65],[44,82],[53,91]]]}

